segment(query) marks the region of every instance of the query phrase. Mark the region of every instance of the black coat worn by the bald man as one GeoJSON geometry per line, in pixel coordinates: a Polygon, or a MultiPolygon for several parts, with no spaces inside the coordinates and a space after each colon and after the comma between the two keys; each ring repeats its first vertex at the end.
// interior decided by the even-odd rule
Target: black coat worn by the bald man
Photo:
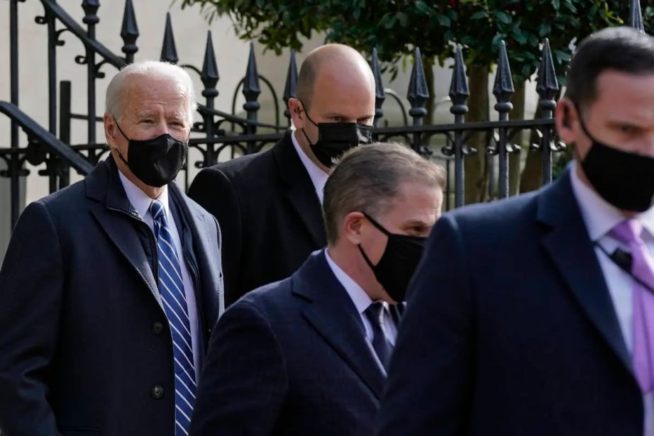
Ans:
{"type": "Polygon", "coordinates": [[[223,231],[227,305],[290,276],[327,243],[320,201],[291,135],[265,152],[203,169],[189,188],[223,231]]]}

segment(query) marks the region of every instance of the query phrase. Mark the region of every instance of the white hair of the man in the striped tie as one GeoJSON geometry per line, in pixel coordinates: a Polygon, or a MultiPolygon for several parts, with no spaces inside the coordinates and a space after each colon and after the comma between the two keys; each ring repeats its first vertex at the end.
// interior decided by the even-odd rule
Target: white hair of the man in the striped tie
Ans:
{"type": "Polygon", "coordinates": [[[158,60],[145,60],[134,62],[116,74],[106,89],[105,112],[111,113],[116,118],[123,116],[123,90],[127,79],[131,76],[152,77],[153,79],[169,79],[176,82],[182,90],[182,94],[187,97],[189,107],[187,109],[187,120],[189,125],[193,124],[193,114],[197,109],[197,101],[193,89],[193,82],[189,73],[182,67],[171,64],[170,62],[160,62],[158,60]]]}

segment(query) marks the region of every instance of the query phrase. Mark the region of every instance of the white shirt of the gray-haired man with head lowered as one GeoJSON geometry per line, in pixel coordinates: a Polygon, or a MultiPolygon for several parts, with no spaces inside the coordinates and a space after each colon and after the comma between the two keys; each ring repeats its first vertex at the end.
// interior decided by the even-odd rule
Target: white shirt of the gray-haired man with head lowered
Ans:
{"type": "MultiPolygon", "coordinates": [[[[329,267],[331,268],[331,271],[336,276],[336,279],[340,282],[341,285],[343,285],[343,288],[345,288],[345,291],[352,299],[355,308],[357,308],[357,312],[359,313],[359,316],[365,328],[365,336],[368,342],[372,344],[372,337],[373,337],[372,325],[370,324],[370,320],[368,320],[367,316],[365,315],[365,311],[372,304],[372,300],[370,299],[368,294],[365,293],[362,287],[359,286],[357,282],[352,279],[352,277],[348,276],[348,274],[346,274],[343,271],[343,269],[340,269],[340,267],[336,264],[336,262],[334,262],[333,259],[329,257],[329,252],[327,249],[325,249],[325,257],[327,259],[327,263],[329,264],[329,267]]],[[[382,311],[382,330],[384,330],[384,335],[386,336],[388,342],[390,342],[391,345],[395,346],[395,338],[397,337],[397,326],[393,322],[393,318],[391,317],[391,313],[389,312],[388,303],[384,301],[383,305],[384,305],[384,311],[382,311]]]]}

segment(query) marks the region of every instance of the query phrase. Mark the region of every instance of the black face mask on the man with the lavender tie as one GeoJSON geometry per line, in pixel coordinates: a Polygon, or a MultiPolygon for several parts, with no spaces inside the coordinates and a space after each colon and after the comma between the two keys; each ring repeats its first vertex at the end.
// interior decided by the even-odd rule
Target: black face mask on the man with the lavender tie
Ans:
{"type": "Polygon", "coordinates": [[[644,212],[654,206],[654,159],[599,142],[580,125],[592,145],[582,164],[597,194],[623,211],[644,212]]]}

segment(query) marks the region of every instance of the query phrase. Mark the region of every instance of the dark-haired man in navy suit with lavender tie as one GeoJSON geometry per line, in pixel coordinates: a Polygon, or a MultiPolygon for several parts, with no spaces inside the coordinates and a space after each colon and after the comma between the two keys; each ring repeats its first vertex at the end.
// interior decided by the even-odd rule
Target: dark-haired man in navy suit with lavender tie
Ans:
{"type": "Polygon", "coordinates": [[[599,31],[566,86],[575,162],[434,228],[380,435],[654,435],[654,38],[599,31]]]}

